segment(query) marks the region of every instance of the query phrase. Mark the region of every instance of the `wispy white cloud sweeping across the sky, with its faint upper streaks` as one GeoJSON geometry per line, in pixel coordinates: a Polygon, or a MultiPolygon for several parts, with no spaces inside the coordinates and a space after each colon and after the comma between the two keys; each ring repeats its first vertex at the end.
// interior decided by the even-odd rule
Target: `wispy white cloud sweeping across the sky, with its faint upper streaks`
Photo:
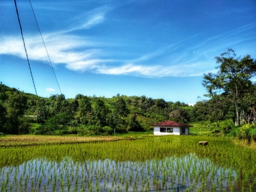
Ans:
{"type": "MultiPolygon", "coordinates": [[[[216,51],[225,51],[230,48],[229,41],[226,40],[230,34],[237,34],[250,31],[256,24],[252,23],[238,30],[225,32],[224,34],[209,37],[193,46],[187,48],[187,41],[197,40],[197,36],[188,37],[172,45],[156,48],[155,51],[144,53],[138,58],[117,59],[112,52],[108,55],[108,47],[115,46],[117,42],[100,42],[86,36],[70,35],[68,32],[89,29],[105,20],[106,11],[96,11],[89,16],[79,26],[68,28],[56,33],[44,34],[44,41],[47,45],[49,57],[52,64],[64,64],[66,68],[77,72],[86,70],[93,73],[129,75],[142,77],[187,77],[201,76],[203,73],[213,72],[209,68],[212,64],[216,51]],[[221,42],[221,43],[220,43],[221,42]],[[172,55],[172,59],[163,61],[155,60],[156,57],[172,55]],[[188,57],[189,56],[189,57],[188,57]],[[187,59],[189,58],[189,60],[187,59]],[[154,61],[152,61],[154,60],[154,61]],[[155,64],[154,64],[155,63],[155,64]]],[[[232,41],[232,45],[242,44],[239,39],[232,41]]],[[[32,60],[48,62],[47,52],[39,36],[28,36],[25,39],[28,57],[32,60]]],[[[194,42],[195,43],[195,42],[194,42]]],[[[14,55],[26,59],[23,42],[20,37],[2,36],[0,37],[0,54],[14,55]]]]}

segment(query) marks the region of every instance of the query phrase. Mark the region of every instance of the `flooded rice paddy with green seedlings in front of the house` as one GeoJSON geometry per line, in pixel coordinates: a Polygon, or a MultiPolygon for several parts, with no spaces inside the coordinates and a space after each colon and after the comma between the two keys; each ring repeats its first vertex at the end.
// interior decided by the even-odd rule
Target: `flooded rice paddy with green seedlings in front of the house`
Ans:
{"type": "Polygon", "coordinates": [[[196,136],[0,148],[0,191],[256,191],[256,153],[196,136]]]}

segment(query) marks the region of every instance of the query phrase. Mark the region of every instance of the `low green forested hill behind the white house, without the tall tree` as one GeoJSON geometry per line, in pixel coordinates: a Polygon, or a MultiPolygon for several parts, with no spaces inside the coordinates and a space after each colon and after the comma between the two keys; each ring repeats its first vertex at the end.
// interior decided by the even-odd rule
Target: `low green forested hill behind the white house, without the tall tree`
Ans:
{"type": "Polygon", "coordinates": [[[214,122],[234,116],[230,103],[221,95],[195,106],[142,96],[115,95],[112,98],[77,94],[36,97],[0,85],[0,132],[3,133],[80,133],[104,135],[113,132],[144,131],[163,120],[191,123],[214,122]]]}

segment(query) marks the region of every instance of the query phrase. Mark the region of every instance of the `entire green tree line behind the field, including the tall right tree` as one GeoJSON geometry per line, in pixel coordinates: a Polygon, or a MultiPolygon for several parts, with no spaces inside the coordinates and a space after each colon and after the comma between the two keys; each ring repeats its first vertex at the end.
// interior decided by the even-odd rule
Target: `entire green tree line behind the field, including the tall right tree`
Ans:
{"type": "MultiPolygon", "coordinates": [[[[0,132],[109,135],[150,130],[152,123],[163,120],[213,123],[233,119],[238,127],[250,116],[255,120],[256,85],[251,81],[256,74],[255,60],[236,57],[228,49],[216,61],[218,72],[204,74],[202,82],[209,100],[199,98],[194,106],[145,95],[105,98],[77,94],[66,99],[64,94],[55,94],[37,98],[1,82],[0,132]]],[[[226,133],[231,130],[232,126],[224,126],[226,133]]]]}

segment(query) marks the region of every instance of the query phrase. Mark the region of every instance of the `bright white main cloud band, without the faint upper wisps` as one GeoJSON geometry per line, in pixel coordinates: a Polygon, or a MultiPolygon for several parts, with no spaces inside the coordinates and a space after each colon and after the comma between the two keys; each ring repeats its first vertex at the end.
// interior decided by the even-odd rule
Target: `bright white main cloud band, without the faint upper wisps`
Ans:
{"type": "MultiPolygon", "coordinates": [[[[41,37],[27,37],[26,48],[30,60],[48,62],[47,52],[42,43],[41,37]]],[[[151,59],[164,53],[159,50],[139,59],[134,59],[129,64],[125,61],[115,59],[104,59],[104,53],[94,43],[88,39],[72,35],[46,35],[44,42],[47,45],[47,51],[53,65],[65,64],[68,69],[84,72],[90,70],[94,73],[131,75],[143,77],[185,77],[200,76],[206,70],[205,63],[186,63],[166,65],[151,65],[151,59]],[[144,64],[137,64],[143,61],[144,64]],[[118,66],[110,66],[108,63],[115,62],[118,66]],[[145,64],[146,62],[146,64],[145,64]],[[148,64],[147,64],[148,63],[148,64]]],[[[22,40],[18,37],[6,36],[0,38],[0,54],[15,55],[26,59],[22,40]]],[[[180,62],[177,60],[176,62],[180,62]]]]}

